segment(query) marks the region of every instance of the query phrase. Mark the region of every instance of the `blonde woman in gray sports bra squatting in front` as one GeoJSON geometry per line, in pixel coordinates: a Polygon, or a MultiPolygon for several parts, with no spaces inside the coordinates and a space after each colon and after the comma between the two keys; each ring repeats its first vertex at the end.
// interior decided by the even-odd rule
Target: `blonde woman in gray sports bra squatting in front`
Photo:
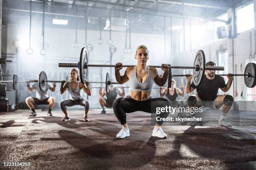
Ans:
{"type": "MultiPolygon", "coordinates": [[[[120,97],[113,102],[115,116],[123,127],[116,135],[117,138],[130,136],[126,122],[126,113],[135,111],[155,113],[156,107],[171,106],[171,102],[166,98],[151,98],[150,96],[154,82],[159,86],[165,84],[168,77],[167,65],[161,65],[161,70],[164,71],[162,77],[158,75],[155,67],[148,67],[148,49],[145,45],[139,45],[136,48],[135,59],[137,65],[135,67],[127,67],[123,75],[120,75],[120,70],[123,68],[122,63],[117,63],[117,67],[115,67],[115,78],[117,82],[120,84],[128,80],[130,82],[130,95],[126,98],[120,97]]],[[[157,116],[164,118],[168,115],[169,112],[161,112],[157,116]]],[[[156,121],[152,136],[167,138],[167,135],[161,129],[162,124],[163,121],[156,121]]]]}

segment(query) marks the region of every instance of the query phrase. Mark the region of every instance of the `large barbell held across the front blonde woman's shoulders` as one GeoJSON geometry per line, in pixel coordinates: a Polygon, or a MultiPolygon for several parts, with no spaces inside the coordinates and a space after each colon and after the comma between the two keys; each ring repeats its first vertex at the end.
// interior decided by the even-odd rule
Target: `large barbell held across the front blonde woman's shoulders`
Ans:
{"type": "MultiPolygon", "coordinates": [[[[123,65],[123,67],[134,67],[136,65],[123,65]]],[[[160,68],[160,65],[148,65],[149,67],[160,68]]],[[[85,47],[82,47],[80,52],[80,58],[78,63],[59,63],[59,67],[77,67],[79,69],[79,76],[81,82],[85,84],[87,82],[87,70],[88,67],[116,67],[116,65],[92,65],[88,64],[87,52],[85,47]]],[[[203,75],[205,70],[224,70],[224,67],[218,66],[205,66],[205,53],[203,50],[198,50],[195,55],[194,65],[187,66],[171,66],[168,65],[168,82],[167,87],[172,86],[172,68],[182,68],[182,69],[193,69],[193,82],[196,86],[200,85],[202,82],[203,75]]]]}

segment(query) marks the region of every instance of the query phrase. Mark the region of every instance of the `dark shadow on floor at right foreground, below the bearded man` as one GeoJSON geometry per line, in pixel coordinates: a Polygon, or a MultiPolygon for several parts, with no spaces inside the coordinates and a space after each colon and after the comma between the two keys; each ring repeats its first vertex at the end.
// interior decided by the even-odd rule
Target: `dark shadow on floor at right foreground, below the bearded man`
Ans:
{"type": "MultiPolygon", "coordinates": [[[[256,161],[255,136],[233,128],[195,128],[195,126],[191,126],[184,133],[177,134],[173,150],[166,155],[166,158],[172,160],[191,159],[189,156],[182,156],[184,155],[182,146],[202,159],[220,160],[227,164],[256,161]]],[[[246,165],[247,167],[244,168],[252,168],[249,163],[245,163],[243,166],[246,165]]]]}

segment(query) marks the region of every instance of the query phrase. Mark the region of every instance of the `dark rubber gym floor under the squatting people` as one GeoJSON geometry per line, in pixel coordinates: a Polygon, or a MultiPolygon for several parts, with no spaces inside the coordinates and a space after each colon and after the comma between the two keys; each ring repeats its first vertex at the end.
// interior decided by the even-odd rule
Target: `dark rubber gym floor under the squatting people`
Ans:
{"type": "MultiPolygon", "coordinates": [[[[115,138],[121,129],[113,110],[63,113],[29,110],[0,114],[1,162],[31,162],[27,169],[256,169],[255,126],[164,126],[167,139],[151,137],[150,114],[127,114],[130,137],[115,138]]],[[[217,123],[217,122],[216,122],[217,123]]],[[[26,169],[16,167],[17,169],[26,169]]]]}

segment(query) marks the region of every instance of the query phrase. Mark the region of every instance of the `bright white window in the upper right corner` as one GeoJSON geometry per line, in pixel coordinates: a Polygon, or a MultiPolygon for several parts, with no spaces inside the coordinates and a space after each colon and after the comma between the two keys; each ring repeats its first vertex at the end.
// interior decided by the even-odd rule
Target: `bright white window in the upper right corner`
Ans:
{"type": "Polygon", "coordinates": [[[237,33],[254,28],[253,3],[236,11],[237,33]]]}

